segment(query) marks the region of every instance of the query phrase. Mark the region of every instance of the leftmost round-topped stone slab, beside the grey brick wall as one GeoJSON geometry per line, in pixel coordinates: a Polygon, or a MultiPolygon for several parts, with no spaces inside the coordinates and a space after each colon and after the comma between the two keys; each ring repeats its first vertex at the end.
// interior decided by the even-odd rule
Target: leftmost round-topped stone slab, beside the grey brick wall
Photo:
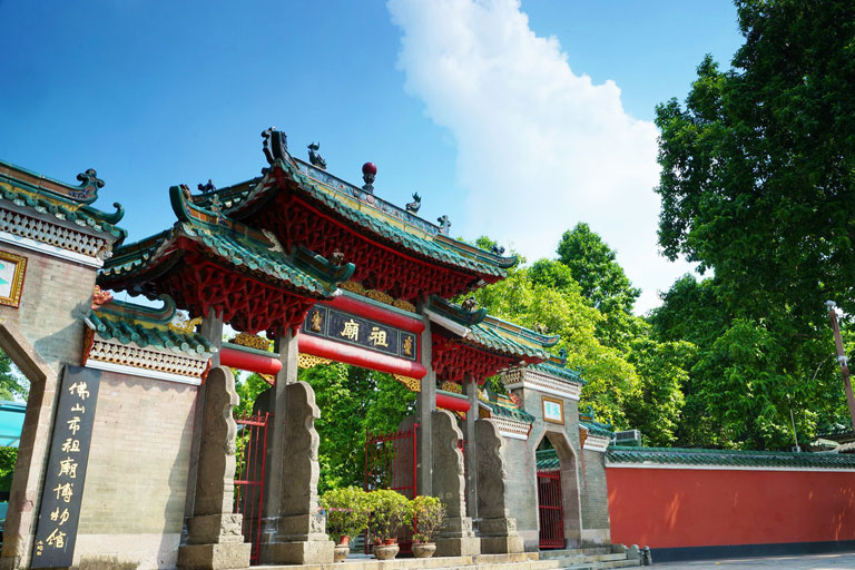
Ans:
{"type": "Polygon", "coordinates": [[[233,512],[235,436],[232,411],[239,399],[235,376],[225,366],[208,373],[196,501],[187,525],[187,544],[178,549],[178,568],[225,569],[249,566],[252,544],[240,532],[243,517],[233,512]]]}

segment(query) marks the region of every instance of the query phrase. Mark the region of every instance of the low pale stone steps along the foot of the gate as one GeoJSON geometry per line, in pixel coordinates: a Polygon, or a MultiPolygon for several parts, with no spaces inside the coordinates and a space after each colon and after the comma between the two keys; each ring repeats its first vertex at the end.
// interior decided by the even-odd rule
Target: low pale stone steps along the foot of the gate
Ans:
{"type": "Polygon", "coordinates": [[[479,554],[449,558],[396,558],[381,562],[366,556],[351,556],[338,564],[267,566],[264,570],[600,570],[633,568],[640,560],[627,560],[620,547],[580,548],[522,552],[519,554],[479,554]]]}

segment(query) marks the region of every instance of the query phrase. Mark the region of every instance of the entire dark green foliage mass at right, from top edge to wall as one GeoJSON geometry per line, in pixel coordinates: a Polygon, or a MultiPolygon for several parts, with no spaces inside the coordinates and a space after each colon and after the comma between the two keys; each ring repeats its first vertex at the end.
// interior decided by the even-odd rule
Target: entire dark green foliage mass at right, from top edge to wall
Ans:
{"type": "Polygon", "coordinates": [[[784,448],[846,416],[823,302],[855,314],[855,4],[740,0],[745,43],[657,108],[659,242],[699,263],[651,315],[698,347],[690,444],[784,448]]]}

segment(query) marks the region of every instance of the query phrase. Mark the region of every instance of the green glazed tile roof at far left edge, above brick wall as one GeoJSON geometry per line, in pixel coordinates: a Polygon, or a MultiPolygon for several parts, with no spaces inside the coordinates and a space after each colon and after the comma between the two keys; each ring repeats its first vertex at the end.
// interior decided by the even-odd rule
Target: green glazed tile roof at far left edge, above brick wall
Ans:
{"type": "MultiPolygon", "coordinates": [[[[9,165],[0,163],[0,166],[9,165]]],[[[18,169],[17,167],[8,169],[11,168],[18,169]]],[[[2,173],[0,173],[0,198],[18,206],[32,208],[40,214],[49,214],[57,219],[67,219],[80,227],[88,227],[95,232],[108,234],[118,238],[119,242],[128,235],[126,229],[115,225],[125,213],[119,204],[114,204],[117,212],[108,214],[91,206],[55,195],[47,189],[38,188],[2,173]]]]}

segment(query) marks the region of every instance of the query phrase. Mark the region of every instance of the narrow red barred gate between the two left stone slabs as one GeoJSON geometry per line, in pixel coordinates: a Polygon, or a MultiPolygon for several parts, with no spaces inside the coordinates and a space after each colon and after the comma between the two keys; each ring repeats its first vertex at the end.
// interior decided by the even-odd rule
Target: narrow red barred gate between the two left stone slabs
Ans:
{"type": "Polygon", "coordinates": [[[235,470],[235,512],[244,515],[244,539],[252,542],[249,563],[258,563],[262,539],[262,501],[267,463],[267,422],[273,414],[258,413],[236,419],[237,469],[235,470]]]}

